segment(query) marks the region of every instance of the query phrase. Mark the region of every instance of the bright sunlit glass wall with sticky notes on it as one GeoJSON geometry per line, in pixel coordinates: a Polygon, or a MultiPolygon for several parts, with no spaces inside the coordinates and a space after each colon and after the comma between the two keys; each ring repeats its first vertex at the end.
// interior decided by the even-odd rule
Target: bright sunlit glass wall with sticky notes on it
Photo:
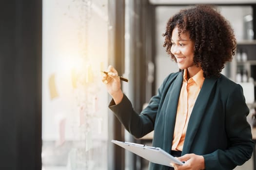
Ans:
{"type": "Polygon", "coordinates": [[[43,0],[42,170],[106,170],[107,0],[43,0]]]}

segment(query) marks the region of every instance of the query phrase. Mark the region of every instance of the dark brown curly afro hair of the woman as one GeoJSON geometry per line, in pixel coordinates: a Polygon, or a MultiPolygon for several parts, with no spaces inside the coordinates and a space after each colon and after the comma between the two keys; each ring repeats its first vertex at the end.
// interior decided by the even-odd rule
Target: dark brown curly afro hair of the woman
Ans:
{"type": "Polygon", "coordinates": [[[172,59],[172,32],[178,28],[179,35],[188,32],[195,42],[194,63],[202,67],[205,78],[219,77],[224,64],[232,60],[236,51],[236,38],[230,23],[214,6],[197,5],[180,10],[168,20],[164,45],[172,59]]]}

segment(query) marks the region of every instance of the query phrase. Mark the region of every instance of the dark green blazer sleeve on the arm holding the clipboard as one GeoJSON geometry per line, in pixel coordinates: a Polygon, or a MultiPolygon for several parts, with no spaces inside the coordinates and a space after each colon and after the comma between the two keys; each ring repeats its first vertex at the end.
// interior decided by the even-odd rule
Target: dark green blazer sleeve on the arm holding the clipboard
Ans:
{"type": "Polygon", "coordinates": [[[206,170],[232,170],[251,158],[254,141],[246,119],[248,113],[242,87],[236,85],[226,102],[225,127],[228,148],[203,155],[206,170]]]}

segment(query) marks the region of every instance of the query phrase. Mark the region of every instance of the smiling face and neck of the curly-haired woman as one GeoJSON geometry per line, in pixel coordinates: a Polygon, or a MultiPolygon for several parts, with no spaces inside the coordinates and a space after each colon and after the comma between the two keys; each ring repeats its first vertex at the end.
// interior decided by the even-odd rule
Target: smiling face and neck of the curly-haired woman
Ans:
{"type": "Polygon", "coordinates": [[[187,68],[190,77],[194,76],[201,68],[197,67],[194,59],[194,41],[189,37],[189,33],[181,33],[178,36],[178,28],[176,27],[172,33],[171,52],[174,54],[178,68],[187,68]]]}

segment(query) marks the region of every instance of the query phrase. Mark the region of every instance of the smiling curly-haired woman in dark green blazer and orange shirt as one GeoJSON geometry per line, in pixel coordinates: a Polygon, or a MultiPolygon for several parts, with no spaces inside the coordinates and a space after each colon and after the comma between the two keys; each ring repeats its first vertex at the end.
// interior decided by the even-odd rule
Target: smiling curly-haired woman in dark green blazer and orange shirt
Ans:
{"type": "MultiPolygon", "coordinates": [[[[102,76],[109,108],[135,137],[154,130],[153,146],[185,161],[175,170],[232,170],[250,159],[254,142],[242,87],[220,71],[236,51],[228,21],[214,7],[181,10],[166,26],[164,47],[179,72],[165,78],[138,115],[122,93],[115,68],[102,76]]],[[[150,163],[150,170],[173,170],[150,163]]]]}

